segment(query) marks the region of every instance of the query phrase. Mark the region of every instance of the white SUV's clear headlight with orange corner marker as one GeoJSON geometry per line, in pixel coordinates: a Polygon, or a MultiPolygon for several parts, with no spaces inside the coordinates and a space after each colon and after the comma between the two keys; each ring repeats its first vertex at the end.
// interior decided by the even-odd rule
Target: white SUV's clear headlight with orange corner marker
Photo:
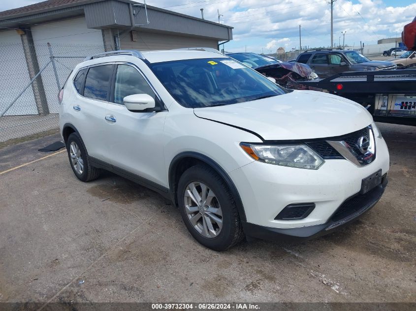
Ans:
{"type": "Polygon", "coordinates": [[[241,148],[253,159],[291,168],[318,170],[325,161],[305,144],[265,145],[240,143],[241,148]]]}

